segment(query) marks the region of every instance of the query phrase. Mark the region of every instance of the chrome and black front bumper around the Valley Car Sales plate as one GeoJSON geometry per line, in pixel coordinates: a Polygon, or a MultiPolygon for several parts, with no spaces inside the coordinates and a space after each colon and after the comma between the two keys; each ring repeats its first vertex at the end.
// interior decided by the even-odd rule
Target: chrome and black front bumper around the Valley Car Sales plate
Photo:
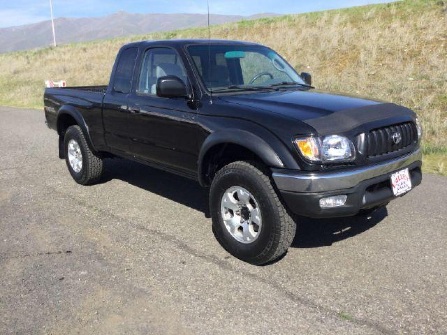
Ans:
{"type": "Polygon", "coordinates": [[[289,209],[295,214],[312,218],[350,216],[360,209],[386,204],[395,199],[390,177],[401,169],[409,169],[414,187],[422,181],[422,151],[367,167],[354,167],[333,172],[285,172],[272,169],[273,179],[289,209]],[[322,209],[320,199],[346,194],[345,205],[322,209]]]}

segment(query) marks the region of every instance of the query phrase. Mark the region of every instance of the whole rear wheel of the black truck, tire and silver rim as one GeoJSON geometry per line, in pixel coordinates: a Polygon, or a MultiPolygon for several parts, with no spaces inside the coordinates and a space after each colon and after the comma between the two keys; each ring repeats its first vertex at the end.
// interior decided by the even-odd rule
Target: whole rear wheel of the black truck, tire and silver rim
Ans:
{"type": "Polygon", "coordinates": [[[80,126],[68,127],[64,150],[68,171],[78,184],[93,184],[101,179],[103,161],[90,150],[80,126]]]}

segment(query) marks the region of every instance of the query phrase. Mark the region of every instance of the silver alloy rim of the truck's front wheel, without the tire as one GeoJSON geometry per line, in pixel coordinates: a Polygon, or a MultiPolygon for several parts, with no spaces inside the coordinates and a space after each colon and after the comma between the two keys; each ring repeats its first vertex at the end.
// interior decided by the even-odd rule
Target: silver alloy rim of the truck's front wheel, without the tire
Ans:
{"type": "Polygon", "coordinates": [[[261,209],[249,191],[240,186],[228,188],[223,193],[220,207],[223,223],[236,241],[256,241],[262,228],[261,209]]]}

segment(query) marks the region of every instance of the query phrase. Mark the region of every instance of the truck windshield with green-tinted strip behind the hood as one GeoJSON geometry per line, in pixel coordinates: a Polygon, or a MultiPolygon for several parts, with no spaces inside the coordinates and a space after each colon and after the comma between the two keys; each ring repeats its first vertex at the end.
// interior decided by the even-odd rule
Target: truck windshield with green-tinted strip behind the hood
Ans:
{"type": "Polygon", "coordinates": [[[265,46],[206,44],[189,46],[208,91],[305,85],[295,70],[265,46]]]}

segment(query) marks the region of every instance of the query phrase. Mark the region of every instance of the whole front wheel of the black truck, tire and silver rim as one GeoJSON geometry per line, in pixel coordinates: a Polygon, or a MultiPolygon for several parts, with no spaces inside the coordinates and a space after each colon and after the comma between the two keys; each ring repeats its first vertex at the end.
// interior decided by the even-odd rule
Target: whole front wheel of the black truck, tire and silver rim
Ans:
{"type": "Polygon", "coordinates": [[[210,189],[213,232],[232,255],[266,264],[290,247],[296,224],[278,197],[265,167],[234,162],[223,167],[210,189]]]}

